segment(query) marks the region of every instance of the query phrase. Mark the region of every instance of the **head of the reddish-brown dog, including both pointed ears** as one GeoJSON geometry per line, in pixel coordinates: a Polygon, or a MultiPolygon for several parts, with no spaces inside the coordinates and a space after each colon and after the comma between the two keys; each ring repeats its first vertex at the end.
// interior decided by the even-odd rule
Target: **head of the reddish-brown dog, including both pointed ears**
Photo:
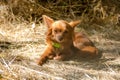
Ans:
{"type": "Polygon", "coordinates": [[[64,20],[54,21],[52,18],[43,15],[43,21],[48,27],[47,34],[52,40],[63,43],[72,39],[74,33],[74,27],[80,23],[80,21],[67,22],[64,20]]]}

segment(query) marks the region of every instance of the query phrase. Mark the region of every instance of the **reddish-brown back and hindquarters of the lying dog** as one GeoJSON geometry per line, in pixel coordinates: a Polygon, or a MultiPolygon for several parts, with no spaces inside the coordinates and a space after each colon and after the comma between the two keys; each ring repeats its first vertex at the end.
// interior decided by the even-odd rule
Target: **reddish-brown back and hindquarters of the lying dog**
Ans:
{"type": "Polygon", "coordinates": [[[98,55],[98,49],[85,34],[76,32],[74,35],[74,47],[78,49],[77,56],[86,58],[95,58],[98,55]]]}

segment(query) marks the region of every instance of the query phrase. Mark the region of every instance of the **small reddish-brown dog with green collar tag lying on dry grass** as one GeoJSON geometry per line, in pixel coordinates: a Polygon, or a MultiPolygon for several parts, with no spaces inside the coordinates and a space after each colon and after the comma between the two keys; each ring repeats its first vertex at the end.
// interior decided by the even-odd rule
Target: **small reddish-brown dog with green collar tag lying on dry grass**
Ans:
{"type": "Polygon", "coordinates": [[[98,50],[90,39],[80,32],[74,32],[80,21],[54,21],[45,15],[43,21],[48,27],[47,48],[38,61],[39,65],[48,59],[67,60],[73,56],[95,58],[98,55],[98,50]]]}

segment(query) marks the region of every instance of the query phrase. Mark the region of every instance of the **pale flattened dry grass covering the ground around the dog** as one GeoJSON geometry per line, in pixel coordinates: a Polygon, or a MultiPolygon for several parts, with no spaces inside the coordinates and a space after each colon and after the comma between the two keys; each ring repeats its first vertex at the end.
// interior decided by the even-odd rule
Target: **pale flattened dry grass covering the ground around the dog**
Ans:
{"type": "Polygon", "coordinates": [[[21,21],[19,17],[9,13],[7,8],[0,4],[0,80],[120,79],[118,25],[81,24],[82,28],[76,29],[89,35],[102,51],[101,59],[51,60],[43,66],[38,66],[36,60],[45,49],[45,26],[42,23],[21,21]]]}

